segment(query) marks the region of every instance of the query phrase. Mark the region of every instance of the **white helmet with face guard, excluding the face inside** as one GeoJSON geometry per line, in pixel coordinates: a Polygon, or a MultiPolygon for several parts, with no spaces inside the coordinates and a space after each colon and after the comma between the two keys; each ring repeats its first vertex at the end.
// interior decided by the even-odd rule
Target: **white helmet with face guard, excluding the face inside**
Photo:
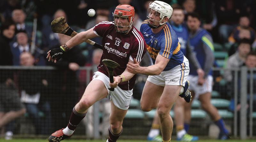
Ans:
{"type": "MultiPolygon", "coordinates": [[[[166,16],[168,19],[171,18],[172,16],[172,7],[170,4],[167,4],[165,2],[162,2],[162,1],[154,1],[152,3],[149,4],[148,6],[148,15],[147,15],[147,19],[148,19],[148,25],[149,27],[151,28],[157,28],[159,26],[154,26],[152,24],[149,24],[149,16],[151,14],[151,11],[150,10],[154,10],[158,13],[160,13],[159,17],[161,18],[159,22],[159,26],[161,25],[164,25],[166,22],[162,23],[162,20],[164,19],[164,17],[166,16]]],[[[152,20],[155,20],[155,19],[152,19],[152,20]]],[[[155,20],[157,21],[157,20],[155,20]]]]}

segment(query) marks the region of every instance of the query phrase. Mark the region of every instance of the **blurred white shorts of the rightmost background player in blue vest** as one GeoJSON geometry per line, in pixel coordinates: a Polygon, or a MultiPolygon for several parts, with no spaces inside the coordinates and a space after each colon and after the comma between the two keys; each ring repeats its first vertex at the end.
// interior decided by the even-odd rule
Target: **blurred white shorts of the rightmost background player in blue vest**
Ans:
{"type": "Polygon", "coordinates": [[[205,82],[203,85],[198,85],[198,76],[197,75],[188,75],[187,80],[189,81],[189,91],[195,92],[195,99],[198,99],[199,95],[212,92],[212,75],[208,75],[205,79],[205,82]]]}

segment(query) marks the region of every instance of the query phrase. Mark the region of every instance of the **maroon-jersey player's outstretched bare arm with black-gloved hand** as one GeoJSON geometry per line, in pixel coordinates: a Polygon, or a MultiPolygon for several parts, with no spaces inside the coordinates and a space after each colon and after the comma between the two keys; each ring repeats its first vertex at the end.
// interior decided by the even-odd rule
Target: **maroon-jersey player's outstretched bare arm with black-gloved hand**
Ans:
{"type": "Polygon", "coordinates": [[[91,28],[87,31],[78,33],[77,35],[72,37],[67,43],[61,45],[59,48],[54,48],[54,49],[48,51],[47,52],[48,55],[46,58],[48,59],[48,61],[52,61],[52,62],[56,63],[72,47],[86,41],[87,39],[94,38],[97,36],[98,35],[96,35],[93,32],[93,28],[91,28]]]}

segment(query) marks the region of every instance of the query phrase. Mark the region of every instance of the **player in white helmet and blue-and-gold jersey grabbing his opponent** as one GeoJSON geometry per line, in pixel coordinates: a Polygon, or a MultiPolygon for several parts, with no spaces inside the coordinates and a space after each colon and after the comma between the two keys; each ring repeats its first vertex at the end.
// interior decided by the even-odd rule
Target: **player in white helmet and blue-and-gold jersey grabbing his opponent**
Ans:
{"type": "Polygon", "coordinates": [[[171,141],[173,122],[170,110],[179,94],[188,102],[191,99],[186,81],[189,74],[188,59],[180,50],[177,35],[170,24],[166,23],[171,16],[172,7],[169,4],[162,1],[149,4],[148,19],[142,23],[140,32],[154,65],[140,67],[136,59],[134,64],[127,64],[129,72],[149,75],[140,105],[143,111],[157,107],[163,142],[171,141]]]}

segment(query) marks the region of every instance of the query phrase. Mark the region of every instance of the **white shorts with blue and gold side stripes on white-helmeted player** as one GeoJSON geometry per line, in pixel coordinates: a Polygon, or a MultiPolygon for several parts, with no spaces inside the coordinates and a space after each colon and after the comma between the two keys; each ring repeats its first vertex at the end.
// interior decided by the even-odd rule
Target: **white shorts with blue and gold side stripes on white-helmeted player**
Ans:
{"type": "Polygon", "coordinates": [[[160,75],[149,75],[147,81],[159,86],[176,85],[185,86],[189,74],[189,62],[184,56],[183,63],[160,75]]]}

